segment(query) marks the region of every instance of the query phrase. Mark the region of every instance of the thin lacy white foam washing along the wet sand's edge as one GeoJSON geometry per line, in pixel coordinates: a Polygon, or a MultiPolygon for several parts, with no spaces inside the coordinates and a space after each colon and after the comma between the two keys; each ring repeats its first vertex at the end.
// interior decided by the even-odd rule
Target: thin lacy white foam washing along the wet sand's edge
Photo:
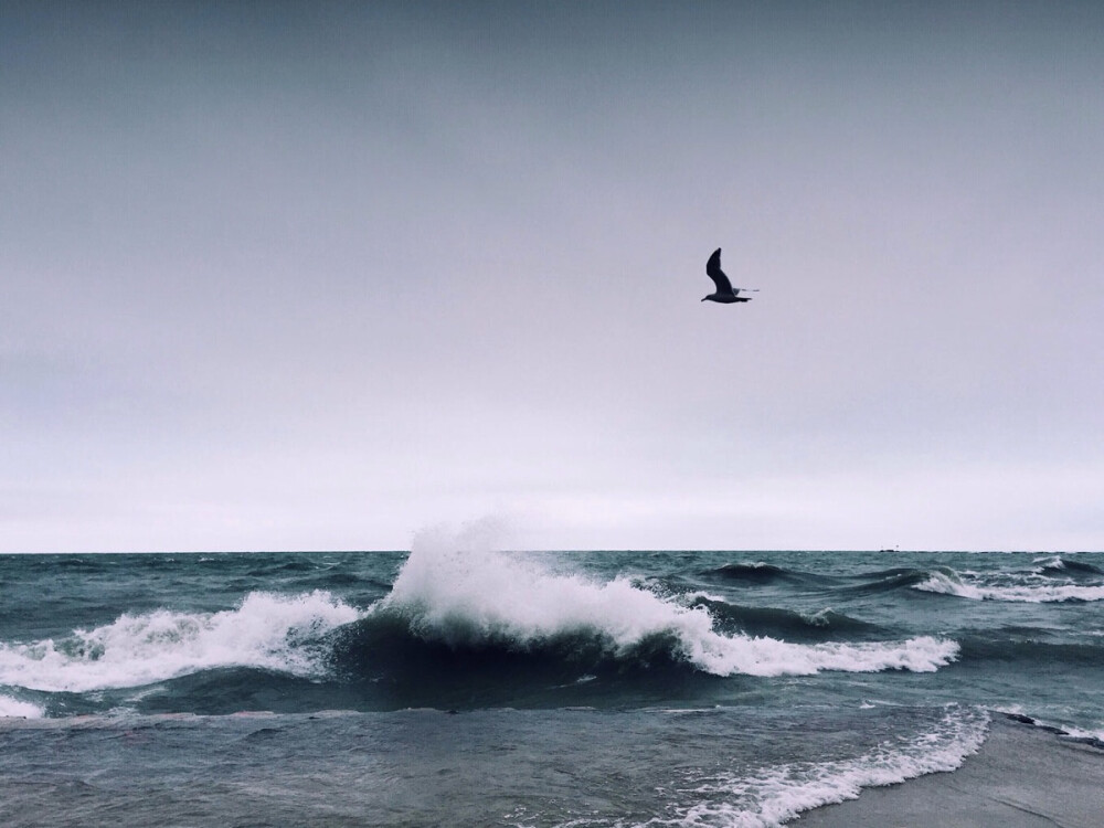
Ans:
{"type": "Polygon", "coordinates": [[[866,787],[954,771],[977,753],[988,723],[984,711],[953,707],[931,731],[887,740],[853,760],[783,764],[751,776],[721,774],[702,781],[694,789],[702,800],[666,824],[775,828],[811,808],[854,799],[866,787]]]}

